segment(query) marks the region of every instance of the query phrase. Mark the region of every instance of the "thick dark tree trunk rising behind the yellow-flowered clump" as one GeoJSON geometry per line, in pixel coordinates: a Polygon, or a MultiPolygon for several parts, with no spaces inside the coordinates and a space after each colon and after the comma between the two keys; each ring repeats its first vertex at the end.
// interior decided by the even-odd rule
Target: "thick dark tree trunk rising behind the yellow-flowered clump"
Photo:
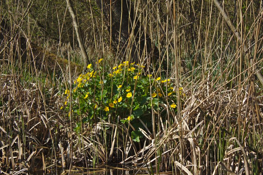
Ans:
{"type": "Polygon", "coordinates": [[[102,8],[102,19],[111,34],[111,47],[116,53],[120,53],[121,57],[124,56],[127,60],[130,58],[130,61],[139,63],[146,47],[148,61],[157,59],[158,49],[152,47],[150,37],[145,34],[139,21],[135,21],[137,19],[134,19],[134,9],[132,4],[130,6],[130,0],[96,0],[96,3],[102,8]]]}

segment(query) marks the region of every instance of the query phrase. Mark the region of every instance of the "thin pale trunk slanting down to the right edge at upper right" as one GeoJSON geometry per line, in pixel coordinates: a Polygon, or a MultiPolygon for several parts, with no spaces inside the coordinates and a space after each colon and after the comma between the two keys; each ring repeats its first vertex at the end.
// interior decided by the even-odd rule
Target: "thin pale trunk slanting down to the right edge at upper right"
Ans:
{"type": "Polygon", "coordinates": [[[232,24],[231,20],[228,17],[227,12],[223,9],[223,7],[219,3],[219,1],[218,0],[213,0],[213,1],[214,1],[215,5],[217,6],[217,8],[219,9],[220,13],[222,14],[224,20],[227,22],[227,25],[229,26],[229,28],[235,34],[235,36],[237,37],[237,39],[240,42],[240,44],[243,45],[243,51],[245,52],[246,58],[249,60],[250,66],[254,65],[254,71],[255,71],[255,73],[257,75],[257,78],[259,79],[260,83],[263,85],[263,75],[261,73],[261,70],[257,66],[257,64],[254,64],[254,58],[253,58],[253,55],[250,54],[250,52],[249,52],[249,49],[247,47],[246,39],[244,41],[242,41],[240,33],[237,31],[237,28],[235,28],[235,26],[232,24]]]}

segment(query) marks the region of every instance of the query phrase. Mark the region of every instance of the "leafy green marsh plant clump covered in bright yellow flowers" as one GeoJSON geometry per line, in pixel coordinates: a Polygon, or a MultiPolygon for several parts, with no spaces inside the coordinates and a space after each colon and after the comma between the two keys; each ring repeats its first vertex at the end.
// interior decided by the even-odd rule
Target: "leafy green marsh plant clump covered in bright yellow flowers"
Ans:
{"type": "MultiPolygon", "coordinates": [[[[144,66],[128,61],[113,67],[110,72],[105,72],[101,66],[102,60],[96,62],[97,70],[89,64],[88,72],[80,74],[74,82],[73,117],[81,116],[82,123],[94,124],[101,119],[108,121],[109,117],[117,121],[120,116],[123,124],[130,123],[137,129],[132,131],[131,136],[134,141],[139,142],[139,138],[143,136],[139,127],[144,127],[139,119],[144,121],[147,127],[151,127],[152,109],[162,111],[166,108],[177,112],[176,91],[170,79],[143,75],[144,66]]],[[[179,92],[185,95],[182,88],[179,92]]],[[[65,94],[69,97],[69,90],[66,90],[65,94]]],[[[68,100],[65,105],[69,111],[68,100]]],[[[78,132],[80,127],[81,123],[77,123],[74,130],[78,132]]]]}

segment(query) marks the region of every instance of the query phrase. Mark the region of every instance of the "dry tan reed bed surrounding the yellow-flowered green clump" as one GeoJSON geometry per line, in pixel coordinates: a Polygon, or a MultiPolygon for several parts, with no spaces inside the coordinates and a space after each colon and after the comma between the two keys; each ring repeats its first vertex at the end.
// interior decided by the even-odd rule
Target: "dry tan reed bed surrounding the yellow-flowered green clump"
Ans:
{"type": "MultiPolygon", "coordinates": [[[[103,174],[112,167],[149,174],[262,174],[263,95],[254,67],[262,67],[262,2],[223,4],[229,16],[234,16],[230,19],[253,55],[252,64],[244,55],[244,43],[235,38],[213,2],[132,1],[137,17],[133,27],[139,23],[144,30],[138,33],[149,34],[152,46],[159,51],[154,66],[145,55],[137,60],[146,67],[142,74],[151,71],[165,76],[174,83],[174,89],[180,88],[177,112],[170,110],[169,104],[159,104],[162,111],[151,113],[156,121],[154,129],[141,121],[144,127],[140,128],[140,142],[132,140],[129,129],[133,126],[121,123],[122,116],[114,120],[97,118],[96,123],[81,124],[81,132],[71,131],[70,124],[75,128],[82,116],[72,118],[70,123],[68,111],[61,106],[66,100],[64,91],[79,76],[74,72],[77,69],[69,74],[67,65],[61,66],[58,74],[48,65],[41,69],[36,66],[31,37],[30,41],[41,46],[44,53],[52,52],[63,59],[68,54],[72,62],[82,64],[76,38],[71,43],[73,48],[66,43],[69,26],[62,24],[71,24],[70,16],[56,12],[59,8],[65,11],[66,2],[60,7],[50,5],[54,7],[51,16],[58,21],[53,21],[54,25],[61,30],[59,42],[47,36],[38,40],[34,33],[39,26],[32,27],[35,20],[24,15],[33,13],[29,10],[32,5],[40,5],[47,13],[46,4],[30,1],[21,9],[18,7],[25,5],[22,2],[1,4],[1,15],[7,6],[13,9],[4,16],[12,32],[0,37],[0,51],[4,48],[0,54],[1,174],[103,174]],[[20,37],[28,39],[24,62],[20,37]]],[[[131,38],[130,45],[123,48],[124,54],[118,49],[114,52],[110,33],[103,26],[103,14],[95,4],[74,2],[83,20],[79,26],[83,29],[92,24],[83,32],[88,36],[84,45],[89,48],[91,63],[103,57],[103,71],[109,73],[131,56],[133,45],[137,52],[140,46],[136,38],[131,38]]]]}

